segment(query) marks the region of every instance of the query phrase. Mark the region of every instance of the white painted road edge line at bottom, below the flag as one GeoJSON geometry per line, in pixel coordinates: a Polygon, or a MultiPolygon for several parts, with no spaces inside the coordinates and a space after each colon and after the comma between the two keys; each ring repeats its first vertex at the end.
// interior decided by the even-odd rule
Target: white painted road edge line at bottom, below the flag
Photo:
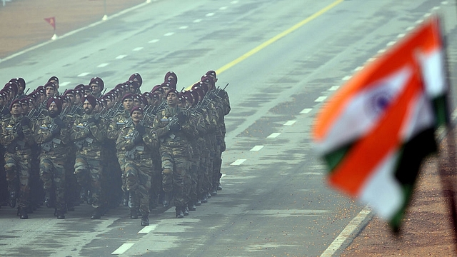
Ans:
{"type": "Polygon", "coordinates": [[[361,223],[365,220],[365,218],[371,213],[371,209],[368,206],[365,206],[362,211],[360,211],[356,217],[352,219],[351,222],[348,223],[346,228],[341,231],[341,233],[333,240],[333,242],[326,248],[326,251],[324,251],[321,254],[321,257],[331,257],[333,256],[336,251],[338,251],[341,246],[343,246],[344,241],[346,241],[347,238],[351,236],[357,229],[359,229],[359,226],[361,226],[361,223]]]}

